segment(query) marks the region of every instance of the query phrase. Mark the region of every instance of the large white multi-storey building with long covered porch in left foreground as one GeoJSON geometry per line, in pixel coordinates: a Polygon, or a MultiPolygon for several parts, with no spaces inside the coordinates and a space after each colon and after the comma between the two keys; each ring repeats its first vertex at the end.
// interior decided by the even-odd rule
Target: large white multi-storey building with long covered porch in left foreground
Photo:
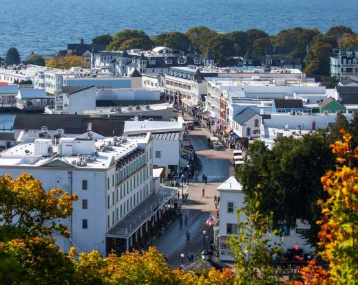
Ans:
{"type": "MultiPolygon", "coordinates": [[[[34,139],[1,152],[0,174],[32,173],[46,191],[78,195],[74,212],[61,223],[70,238],[54,233],[68,251],[98,250],[103,256],[137,248],[137,241],[165,212],[172,188],[152,186],[153,139],[102,137],[89,130],[77,137],[34,139]],[[138,223],[140,221],[140,223],[138,223]]],[[[146,241],[146,240],[144,240],[146,241]]]]}

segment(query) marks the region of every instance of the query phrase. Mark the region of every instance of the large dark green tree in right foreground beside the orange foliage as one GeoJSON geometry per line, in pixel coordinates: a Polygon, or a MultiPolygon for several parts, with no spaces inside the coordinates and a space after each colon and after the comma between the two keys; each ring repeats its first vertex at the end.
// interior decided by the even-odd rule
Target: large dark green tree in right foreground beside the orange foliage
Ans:
{"type": "Polygon", "coordinates": [[[273,212],[275,225],[292,229],[297,220],[308,223],[310,230],[304,238],[313,246],[319,231],[316,221],[321,217],[316,201],[327,197],[319,177],[334,165],[331,142],[331,135],[323,132],[302,139],[277,138],[272,150],[255,141],[248,150],[250,165],[236,173],[249,200],[254,198],[256,185],[262,185],[260,209],[266,214],[273,212]]]}

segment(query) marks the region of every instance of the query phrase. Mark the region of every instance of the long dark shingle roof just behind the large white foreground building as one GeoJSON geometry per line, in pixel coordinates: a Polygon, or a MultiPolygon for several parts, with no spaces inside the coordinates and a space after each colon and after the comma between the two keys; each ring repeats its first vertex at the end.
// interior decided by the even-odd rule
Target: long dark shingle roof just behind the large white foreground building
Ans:
{"type": "Polygon", "coordinates": [[[94,133],[110,137],[122,135],[125,121],[114,117],[94,118],[89,115],[43,115],[17,114],[14,119],[14,130],[41,130],[47,126],[49,130],[63,128],[68,134],[81,134],[87,131],[87,124],[92,123],[94,133]]]}

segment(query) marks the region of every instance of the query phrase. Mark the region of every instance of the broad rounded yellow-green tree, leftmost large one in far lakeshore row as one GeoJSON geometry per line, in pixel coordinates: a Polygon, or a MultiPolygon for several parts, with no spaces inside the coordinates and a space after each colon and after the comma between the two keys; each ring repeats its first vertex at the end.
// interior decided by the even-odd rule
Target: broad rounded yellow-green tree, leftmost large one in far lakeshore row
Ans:
{"type": "Polygon", "coordinates": [[[123,30],[117,32],[108,48],[112,50],[124,50],[131,48],[151,49],[153,42],[140,30],[123,30]]]}

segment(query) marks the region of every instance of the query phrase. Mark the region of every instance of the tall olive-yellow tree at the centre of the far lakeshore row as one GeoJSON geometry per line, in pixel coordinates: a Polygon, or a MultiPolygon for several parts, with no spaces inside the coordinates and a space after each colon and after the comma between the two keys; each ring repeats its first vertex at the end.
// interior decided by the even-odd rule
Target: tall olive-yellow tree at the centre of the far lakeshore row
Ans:
{"type": "Polygon", "coordinates": [[[204,55],[211,46],[209,41],[218,33],[210,30],[208,27],[191,27],[185,33],[191,42],[195,43],[198,53],[204,55]]]}

